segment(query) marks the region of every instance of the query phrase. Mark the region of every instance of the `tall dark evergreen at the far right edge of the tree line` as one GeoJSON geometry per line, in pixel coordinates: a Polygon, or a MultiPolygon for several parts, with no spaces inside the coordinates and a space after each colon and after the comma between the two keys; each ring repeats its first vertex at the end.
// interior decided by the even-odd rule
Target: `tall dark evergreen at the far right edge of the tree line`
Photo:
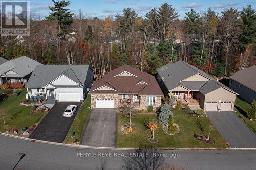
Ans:
{"type": "Polygon", "coordinates": [[[244,51],[245,47],[252,43],[256,45],[256,13],[251,5],[243,8],[240,14],[243,23],[241,25],[241,34],[239,36],[241,50],[244,51]]]}

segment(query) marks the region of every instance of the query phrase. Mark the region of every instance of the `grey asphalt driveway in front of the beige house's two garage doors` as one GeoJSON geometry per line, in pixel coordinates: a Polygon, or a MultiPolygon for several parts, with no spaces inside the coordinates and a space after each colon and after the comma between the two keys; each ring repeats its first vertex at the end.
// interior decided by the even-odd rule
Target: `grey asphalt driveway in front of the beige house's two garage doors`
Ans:
{"type": "Polygon", "coordinates": [[[256,134],[233,112],[207,112],[211,123],[231,148],[256,148],[256,134]]]}

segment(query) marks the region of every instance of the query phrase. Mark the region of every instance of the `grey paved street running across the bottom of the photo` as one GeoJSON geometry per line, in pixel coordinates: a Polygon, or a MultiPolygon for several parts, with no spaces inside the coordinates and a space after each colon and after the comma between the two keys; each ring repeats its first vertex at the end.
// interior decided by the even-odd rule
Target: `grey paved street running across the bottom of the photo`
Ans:
{"type": "MultiPolygon", "coordinates": [[[[106,158],[106,169],[123,169],[124,160],[129,157],[114,157],[114,153],[134,152],[133,150],[105,150],[64,147],[46,143],[30,142],[0,135],[0,169],[97,169],[102,157],[98,154],[111,152],[106,158]],[[77,157],[77,153],[91,153],[89,157],[77,157]],[[22,154],[21,154],[22,153],[22,154]],[[96,153],[96,157],[93,157],[96,153]]],[[[157,151],[156,151],[157,152],[157,151]]],[[[160,151],[180,154],[179,157],[163,157],[165,163],[175,164],[185,169],[255,169],[256,151],[160,151]]]]}

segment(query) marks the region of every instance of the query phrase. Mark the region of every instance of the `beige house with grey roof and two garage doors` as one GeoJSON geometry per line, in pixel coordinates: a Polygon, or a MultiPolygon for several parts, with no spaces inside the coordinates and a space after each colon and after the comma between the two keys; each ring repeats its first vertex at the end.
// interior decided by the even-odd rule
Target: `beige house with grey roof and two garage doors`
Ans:
{"type": "Polygon", "coordinates": [[[204,71],[180,60],[158,68],[157,72],[165,95],[205,111],[233,111],[238,94],[204,71]]]}

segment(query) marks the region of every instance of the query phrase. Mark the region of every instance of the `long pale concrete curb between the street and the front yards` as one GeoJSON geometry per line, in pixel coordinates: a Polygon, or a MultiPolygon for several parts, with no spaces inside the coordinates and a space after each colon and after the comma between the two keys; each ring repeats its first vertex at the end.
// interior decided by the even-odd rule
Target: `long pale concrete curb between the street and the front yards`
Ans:
{"type": "MultiPolygon", "coordinates": [[[[8,136],[12,138],[17,139],[24,139],[33,141],[34,139],[29,139],[26,137],[20,137],[20,136],[14,136],[6,133],[1,133],[0,135],[8,136]]],[[[72,145],[72,144],[65,144],[65,143],[56,143],[56,142],[49,142],[44,140],[35,140],[37,143],[46,143],[46,144],[53,144],[53,145],[59,145],[64,147],[74,147],[74,148],[84,148],[84,149],[105,149],[105,150],[145,150],[145,149],[139,149],[139,148],[114,148],[114,147],[93,147],[93,146],[87,146],[87,145],[72,145]]],[[[146,149],[146,150],[170,150],[170,151],[256,151],[256,148],[159,148],[159,149],[146,149]]]]}

